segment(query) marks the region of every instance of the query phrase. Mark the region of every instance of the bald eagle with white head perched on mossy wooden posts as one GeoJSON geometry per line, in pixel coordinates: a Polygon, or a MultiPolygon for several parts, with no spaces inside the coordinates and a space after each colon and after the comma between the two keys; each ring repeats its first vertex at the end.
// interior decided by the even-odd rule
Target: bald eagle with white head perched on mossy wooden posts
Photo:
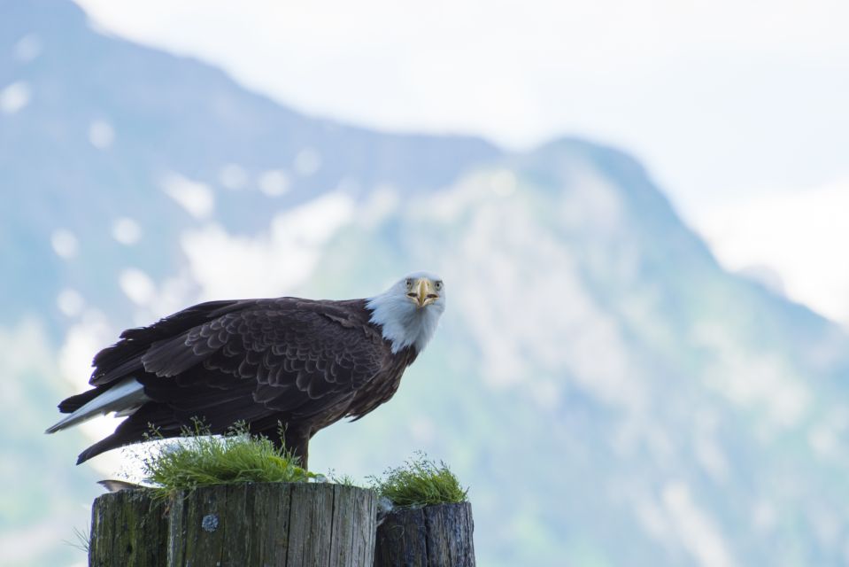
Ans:
{"type": "Polygon", "coordinates": [[[359,419],[397,391],[445,308],[444,283],[420,272],[369,299],[210,301],[125,330],[97,353],[88,392],[46,432],[94,416],[127,416],[77,464],[144,440],[175,437],[195,419],[213,434],[237,421],[306,468],[308,444],[343,417],[359,419]],[[282,427],[281,427],[282,425],[282,427]]]}

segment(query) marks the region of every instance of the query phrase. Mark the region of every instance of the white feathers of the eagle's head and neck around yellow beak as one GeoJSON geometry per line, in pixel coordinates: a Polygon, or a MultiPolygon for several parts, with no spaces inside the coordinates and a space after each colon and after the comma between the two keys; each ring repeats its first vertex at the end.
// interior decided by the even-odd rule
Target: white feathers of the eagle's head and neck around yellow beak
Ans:
{"type": "Polygon", "coordinates": [[[415,272],[380,295],[369,298],[366,307],[372,310],[371,322],[381,325],[383,338],[390,341],[393,353],[411,345],[421,353],[433,338],[439,317],[445,310],[445,286],[438,276],[415,272]],[[410,295],[420,281],[429,283],[430,291],[436,295],[436,299],[431,298],[432,301],[423,307],[410,295]]]}

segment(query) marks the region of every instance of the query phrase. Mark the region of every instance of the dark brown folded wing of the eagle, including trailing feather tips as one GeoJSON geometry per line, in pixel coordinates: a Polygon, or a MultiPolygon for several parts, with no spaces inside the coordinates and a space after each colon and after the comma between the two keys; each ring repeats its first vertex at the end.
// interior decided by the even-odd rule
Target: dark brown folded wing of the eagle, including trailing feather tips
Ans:
{"type": "Polygon", "coordinates": [[[368,324],[364,300],[251,299],[189,307],[125,331],[97,354],[90,380],[95,390],[89,392],[134,377],[150,401],[127,412],[127,420],[78,462],[141,440],[151,424],[166,437],[192,418],[213,433],[236,421],[257,432],[274,431],[278,423],[323,426],[343,417],[357,390],[391,361],[380,331],[368,324]]]}

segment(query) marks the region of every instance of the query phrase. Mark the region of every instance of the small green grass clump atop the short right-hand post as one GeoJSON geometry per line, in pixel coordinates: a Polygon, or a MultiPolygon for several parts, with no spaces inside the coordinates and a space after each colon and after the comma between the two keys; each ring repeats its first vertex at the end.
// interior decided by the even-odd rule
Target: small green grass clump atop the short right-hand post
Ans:
{"type": "Polygon", "coordinates": [[[468,489],[460,486],[448,465],[430,461],[423,453],[415,455],[404,465],[386,470],[382,478],[372,477],[374,491],[403,508],[467,501],[468,489]]]}

